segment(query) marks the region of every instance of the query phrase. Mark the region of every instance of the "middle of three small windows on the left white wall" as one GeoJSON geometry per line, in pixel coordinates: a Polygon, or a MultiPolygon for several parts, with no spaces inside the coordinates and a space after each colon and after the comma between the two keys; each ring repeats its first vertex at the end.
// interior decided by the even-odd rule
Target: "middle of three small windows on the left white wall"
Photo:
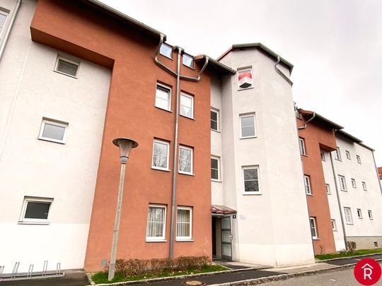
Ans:
{"type": "Polygon", "coordinates": [[[65,143],[67,128],[68,123],[66,122],[43,117],[38,139],[56,143],[65,143]]]}

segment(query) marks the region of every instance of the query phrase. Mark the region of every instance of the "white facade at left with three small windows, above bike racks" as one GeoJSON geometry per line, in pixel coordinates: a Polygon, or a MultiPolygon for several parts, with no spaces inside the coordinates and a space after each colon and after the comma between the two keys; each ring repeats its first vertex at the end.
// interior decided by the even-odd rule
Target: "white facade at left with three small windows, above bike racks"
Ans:
{"type": "MultiPolygon", "coordinates": [[[[1,1],[11,16],[17,1],[1,1]]],[[[110,70],[30,40],[35,1],[23,1],[0,61],[0,266],[11,273],[83,268],[110,70]],[[54,71],[79,63],[76,78],[54,71]],[[40,140],[42,119],[67,123],[64,144],[40,140]],[[23,218],[25,197],[50,200],[49,217],[23,218]]]]}

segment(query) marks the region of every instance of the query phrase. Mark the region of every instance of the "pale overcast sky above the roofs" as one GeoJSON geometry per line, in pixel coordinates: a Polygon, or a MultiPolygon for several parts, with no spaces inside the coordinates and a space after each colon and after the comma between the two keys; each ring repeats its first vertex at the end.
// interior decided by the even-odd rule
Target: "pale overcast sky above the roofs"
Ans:
{"type": "Polygon", "coordinates": [[[265,44],[294,64],[297,105],[344,126],[382,166],[381,0],[103,2],[193,55],[216,59],[232,44],[265,44]]]}

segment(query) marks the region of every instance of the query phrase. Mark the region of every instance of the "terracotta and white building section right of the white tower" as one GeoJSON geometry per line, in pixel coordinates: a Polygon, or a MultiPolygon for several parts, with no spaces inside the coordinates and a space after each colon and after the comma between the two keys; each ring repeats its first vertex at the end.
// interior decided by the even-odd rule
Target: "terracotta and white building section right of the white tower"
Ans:
{"type": "Polygon", "coordinates": [[[325,117],[296,112],[315,254],[381,246],[381,186],[374,150],[325,117]]]}

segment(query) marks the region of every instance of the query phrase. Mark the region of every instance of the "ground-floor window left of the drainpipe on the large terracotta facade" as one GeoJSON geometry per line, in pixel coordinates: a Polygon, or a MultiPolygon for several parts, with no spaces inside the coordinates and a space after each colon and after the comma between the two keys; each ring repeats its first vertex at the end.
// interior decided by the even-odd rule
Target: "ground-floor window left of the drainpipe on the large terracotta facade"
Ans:
{"type": "Polygon", "coordinates": [[[166,205],[149,205],[146,241],[164,240],[166,235],[166,205]]]}

